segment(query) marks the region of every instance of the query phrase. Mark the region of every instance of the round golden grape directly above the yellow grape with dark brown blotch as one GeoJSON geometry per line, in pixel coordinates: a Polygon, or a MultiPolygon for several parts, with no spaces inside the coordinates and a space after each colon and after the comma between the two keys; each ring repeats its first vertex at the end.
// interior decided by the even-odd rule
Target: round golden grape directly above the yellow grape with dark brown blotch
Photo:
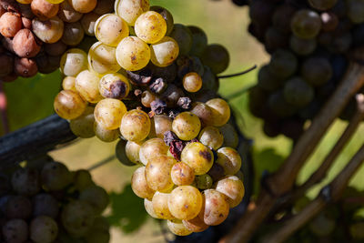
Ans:
{"type": "Polygon", "coordinates": [[[178,114],[172,122],[172,131],[182,140],[191,140],[197,137],[201,128],[198,116],[191,112],[178,114]]]}

